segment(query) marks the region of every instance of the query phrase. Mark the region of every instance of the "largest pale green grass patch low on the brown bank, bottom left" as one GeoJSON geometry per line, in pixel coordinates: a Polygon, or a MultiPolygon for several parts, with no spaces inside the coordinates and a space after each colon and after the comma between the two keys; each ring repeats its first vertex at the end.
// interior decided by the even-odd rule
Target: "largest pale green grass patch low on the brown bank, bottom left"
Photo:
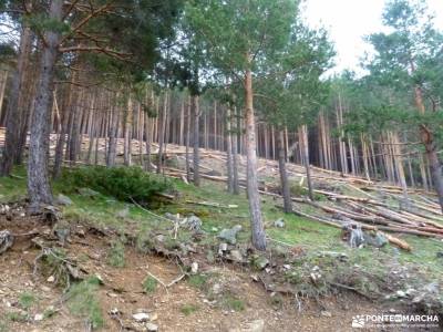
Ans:
{"type": "Polygon", "coordinates": [[[96,294],[99,287],[100,280],[96,277],[90,277],[80,283],[73,284],[66,294],[70,311],[74,315],[86,319],[94,329],[102,328],[104,324],[96,294]]]}

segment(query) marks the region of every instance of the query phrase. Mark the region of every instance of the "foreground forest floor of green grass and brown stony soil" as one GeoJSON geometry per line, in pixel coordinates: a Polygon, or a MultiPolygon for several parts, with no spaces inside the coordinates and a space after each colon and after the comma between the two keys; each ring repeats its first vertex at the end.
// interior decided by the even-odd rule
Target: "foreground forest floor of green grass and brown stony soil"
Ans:
{"type": "MultiPolygon", "coordinates": [[[[248,245],[244,195],[214,181],[200,188],[173,181],[178,195],[151,212],[70,193],[62,214],[71,237],[63,247],[50,226],[23,212],[25,172],[1,178],[0,201],[17,204],[0,215],[0,230],[19,237],[0,255],[0,331],[352,331],[356,315],[443,312],[440,239],[398,235],[412,251],[352,249],[340,229],[286,215],[278,198],[264,196],[269,249],[258,253],[248,245]],[[200,232],[175,229],[166,212],[197,216],[200,232]],[[275,224],[280,218],[284,227],[275,224]],[[236,243],[220,251],[220,231],[237,225],[236,243]],[[68,291],[66,271],[76,277],[68,291]]],[[[56,196],[65,184],[53,187],[56,196]]],[[[363,331],[383,329],[421,330],[363,331]]]]}

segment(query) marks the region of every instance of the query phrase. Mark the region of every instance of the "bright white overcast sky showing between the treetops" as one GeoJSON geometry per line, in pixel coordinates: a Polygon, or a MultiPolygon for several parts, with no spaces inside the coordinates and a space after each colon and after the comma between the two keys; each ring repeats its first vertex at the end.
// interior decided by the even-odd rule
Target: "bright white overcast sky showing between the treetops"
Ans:
{"type": "MultiPolygon", "coordinates": [[[[360,58],[371,48],[363,37],[383,30],[384,0],[307,0],[303,17],[313,27],[324,27],[338,53],[332,72],[359,71],[360,58]]],[[[443,0],[427,0],[435,24],[443,30],[443,0]]]]}

